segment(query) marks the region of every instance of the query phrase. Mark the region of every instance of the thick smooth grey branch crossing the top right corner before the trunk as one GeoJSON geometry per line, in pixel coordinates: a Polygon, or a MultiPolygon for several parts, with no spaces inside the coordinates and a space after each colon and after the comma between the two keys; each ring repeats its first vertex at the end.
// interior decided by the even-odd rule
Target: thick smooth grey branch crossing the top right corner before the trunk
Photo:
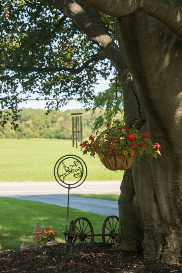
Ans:
{"type": "Polygon", "coordinates": [[[81,0],[92,8],[115,17],[141,11],[159,21],[182,38],[182,4],[180,0],[81,0]]]}

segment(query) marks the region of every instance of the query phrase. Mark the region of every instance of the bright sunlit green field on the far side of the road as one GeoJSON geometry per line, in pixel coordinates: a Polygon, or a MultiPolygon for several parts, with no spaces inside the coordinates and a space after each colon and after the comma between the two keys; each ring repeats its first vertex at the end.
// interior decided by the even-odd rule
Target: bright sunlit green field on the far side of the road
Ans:
{"type": "Polygon", "coordinates": [[[71,140],[0,139],[0,182],[55,181],[57,160],[67,154],[81,157],[88,168],[86,180],[122,180],[123,171],[106,169],[98,157],[84,155],[71,140]]]}

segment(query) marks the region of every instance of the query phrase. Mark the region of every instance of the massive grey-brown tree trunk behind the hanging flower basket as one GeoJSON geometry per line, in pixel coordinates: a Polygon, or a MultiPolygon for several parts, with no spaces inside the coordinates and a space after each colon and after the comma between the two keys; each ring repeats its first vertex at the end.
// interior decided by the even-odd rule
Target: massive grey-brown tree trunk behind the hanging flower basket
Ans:
{"type": "MultiPolygon", "coordinates": [[[[114,1],[84,2],[110,14],[109,5],[114,1]]],[[[180,4],[177,0],[173,2],[180,4]]],[[[155,8],[158,3],[156,1],[155,8]]],[[[119,8],[111,6],[112,15],[118,16],[119,8]]],[[[155,159],[138,154],[132,169],[125,172],[119,198],[119,239],[115,248],[143,249],[145,258],[177,263],[182,251],[182,42],[178,39],[181,30],[177,32],[176,29],[179,20],[173,18],[176,25],[171,23],[169,29],[169,18],[163,14],[169,6],[162,8],[164,10],[158,6],[159,10],[155,11],[149,8],[124,14],[127,16],[117,19],[121,54],[146,113],[141,132],[148,132],[154,142],[160,143],[162,157],[155,159]],[[165,24],[158,20],[160,13],[160,21],[165,24]]],[[[130,106],[132,96],[129,96],[130,93],[125,92],[127,124],[134,120],[130,106]]]]}

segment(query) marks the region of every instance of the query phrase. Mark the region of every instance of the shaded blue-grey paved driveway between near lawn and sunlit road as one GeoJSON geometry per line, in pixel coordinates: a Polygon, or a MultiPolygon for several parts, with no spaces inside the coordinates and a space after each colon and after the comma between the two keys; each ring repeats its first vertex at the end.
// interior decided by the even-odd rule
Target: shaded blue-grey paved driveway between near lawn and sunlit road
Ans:
{"type": "MultiPolygon", "coordinates": [[[[65,194],[50,194],[50,195],[28,195],[28,196],[9,196],[20,200],[31,200],[46,204],[67,207],[68,197],[65,194]]],[[[78,196],[70,196],[70,207],[87,212],[93,212],[101,215],[117,215],[117,201],[101,200],[94,198],[85,198],[78,196]]]]}

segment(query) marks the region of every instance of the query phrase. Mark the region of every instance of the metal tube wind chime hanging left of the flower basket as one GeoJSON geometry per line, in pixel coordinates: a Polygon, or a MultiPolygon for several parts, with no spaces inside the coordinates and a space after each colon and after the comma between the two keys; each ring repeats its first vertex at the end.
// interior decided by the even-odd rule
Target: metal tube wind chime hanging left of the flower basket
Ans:
{"type": "MultiPolygon", "coordinates": [[[[73,147],[76,144],[76,148],[78,148],[78,143],[82,143],[83,136],[83,123],[82,123],[82,115],[83,113],[71,114],[72,116],[72,143],[73,147]]],[[[81,147],[82,151],[82,147],[81,147]]]]}

